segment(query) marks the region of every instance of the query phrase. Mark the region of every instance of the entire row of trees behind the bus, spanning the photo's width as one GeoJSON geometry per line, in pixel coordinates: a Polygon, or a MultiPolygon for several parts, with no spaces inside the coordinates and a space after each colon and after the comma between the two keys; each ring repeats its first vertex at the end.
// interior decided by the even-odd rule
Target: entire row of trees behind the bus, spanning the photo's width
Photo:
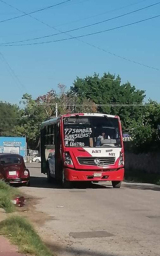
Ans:
{"type": "Polygon", "coordinates": [[[128,81],[122,84],[119,75],[104,73],[100,77],[94,73],[93,76],[77,77],[68,91],[63,84],[58,84],[58,91],[51,89],[36,99],[26,93],[21,109],[16,105],[0,104],[2,135],[26,135],[29,147],[37,147],[41,123],[55,116],[57,103],[58,114],[100,112],[119,115],[123,131],[131,134],[137,152],[159,143],[160,105],[150,100],[145,107],[134,106],[144,103],[145,91],[136,89],[128,81]]]}

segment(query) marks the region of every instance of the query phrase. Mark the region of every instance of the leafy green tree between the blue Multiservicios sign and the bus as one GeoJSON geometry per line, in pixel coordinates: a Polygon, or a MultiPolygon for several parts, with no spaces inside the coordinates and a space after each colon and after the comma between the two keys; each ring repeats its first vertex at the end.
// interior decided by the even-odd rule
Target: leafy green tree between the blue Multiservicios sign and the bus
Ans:
{"type": "Polygon", "coordinates": [[[54,114],[54,106],[45,105],[51,103],[54,98],[54,91],[49,91],[46,95],[32,99],[29,94],[24,94],[21,104],[24,108],[21,112],[21,121],[17,128],[17,135],[26,135],[28,147],[36,148],[40,137],[40,128],[42,121],[45,121],[54,114]],[[44,104],[44,105],[42,105],[44,104]]]}

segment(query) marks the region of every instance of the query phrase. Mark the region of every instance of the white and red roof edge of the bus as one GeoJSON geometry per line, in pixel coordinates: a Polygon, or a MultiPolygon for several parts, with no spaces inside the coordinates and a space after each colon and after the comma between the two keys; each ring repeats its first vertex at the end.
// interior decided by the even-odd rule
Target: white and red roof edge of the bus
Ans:
{"type": "MultiPolygon", "coordinates": [[[[107,115],[107,114],[101,114],[101,113],[74,113],[74,114],[62,115],[62,117],[70,117],[70,116],[76,116],[76,115],[80,115],[80,116],[97,116],[97,117],[107,116],[107,117],[112,117],[112,118],[118,118],[118,116],[115,116],[115,115],[107,115]]],[[[49,120],[47,120],[45,122],[42,122],[42,127],[50,125],[50,124],[53,124],[53,123],[57,123],[57,121],[60,120],[60,117],[61,116],[54,117],[54,118],[49,119],[49,120]]]]}

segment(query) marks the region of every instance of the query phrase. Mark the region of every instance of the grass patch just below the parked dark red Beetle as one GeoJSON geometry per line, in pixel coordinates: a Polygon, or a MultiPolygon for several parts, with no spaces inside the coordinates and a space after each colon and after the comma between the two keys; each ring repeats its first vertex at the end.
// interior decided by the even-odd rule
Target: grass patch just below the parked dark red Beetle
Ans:
{"type": "Polygon", "coordinates": [[[0,208],[5,209],[7,213],[15,210],[15,205],[12,204],[13,200],[18,195],[16,188],[10,187],[3,180],[0,180],[0,208]]]}

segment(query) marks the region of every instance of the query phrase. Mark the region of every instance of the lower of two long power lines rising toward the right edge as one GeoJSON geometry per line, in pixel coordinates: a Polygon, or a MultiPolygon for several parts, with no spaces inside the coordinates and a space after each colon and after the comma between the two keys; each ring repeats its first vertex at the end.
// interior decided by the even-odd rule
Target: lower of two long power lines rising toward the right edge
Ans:
{"type": "MultiPolygon", "coordinates": [[[[0,1],[1,1],[1,0],[0,0],[0,1]]],[[[129,23],[129,24],[125,24],[125,25],[123,25],[123,26],[118,26],[118,27],[114,27],[114,28],[110,28],[110,29],[105,29],[105,30],[101,30],[101,31],[94,32],[94,33],[88,33],[88,34],[84,34],[84,35],[81,35],[81,36],[74,36],[74,37],[71,37],[71,38],[63,38],[63,39],[57,39],[57,40],[53,40],[53,41],[39,42],[39,43],[14,44],[14,45],[8,44],[8,45],[1,45],[1,46],[26,46],[26,45],[37,45],[37,44],[47,44],[47,43],[53,43],[53,42],[66,41],[66,40],[70,40],[70,39],[76,39],[76,38],[81,38],[81,37],[85,37],[85,36],[91,36],[91,35],[96,35],[96,34],[108,32],[108,31],[112,31],[112,30],[115,30],[115,29],[119,29],[119,28],[126,27],[126,26],[131,26],[131,25],[138,24],[138,23],[141,23],[141,22],[144,22],[144,21],[153,19],[153,18],[158,18],[158,17],[160,17],[160,15],[153,16],[153,17],[146,18],[146,19],[142,19],[142,20],[138,20],[138,21],[136,21],[136,22],[132,22],[132,23],[129,23]]]]}

